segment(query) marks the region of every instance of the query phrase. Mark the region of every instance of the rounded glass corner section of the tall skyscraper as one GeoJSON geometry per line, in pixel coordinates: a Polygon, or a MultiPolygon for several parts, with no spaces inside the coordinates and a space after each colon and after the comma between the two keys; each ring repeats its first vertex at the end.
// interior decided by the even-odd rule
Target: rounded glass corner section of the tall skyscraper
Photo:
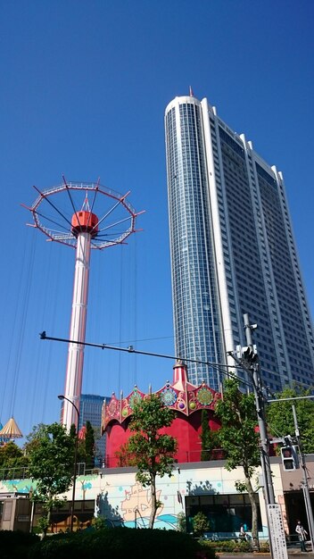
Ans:
{"type": "Polygon", "coordinates": [[[169,111],[166,130],[176,355],[202,362],[188,363],[189,379],[218,389],[205,364],[220,363],[223,349],[200,106],[169,111]]]}

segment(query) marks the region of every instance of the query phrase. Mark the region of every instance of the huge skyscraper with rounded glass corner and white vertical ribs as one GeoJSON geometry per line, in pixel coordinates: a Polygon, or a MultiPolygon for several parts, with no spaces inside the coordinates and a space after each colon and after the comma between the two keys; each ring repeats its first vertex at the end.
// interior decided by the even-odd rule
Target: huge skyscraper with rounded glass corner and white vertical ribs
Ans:
{"type": "MultiPolygon", "coordinates": [[[[309,387],[313,328],[282,173],[192,92],[168,104],[165,129],[176,355],[235,364],[248,313],[264,383],[309,387]]],[[[191,382],[219,388],[219,368],[187,364],[191,382]]]]}

